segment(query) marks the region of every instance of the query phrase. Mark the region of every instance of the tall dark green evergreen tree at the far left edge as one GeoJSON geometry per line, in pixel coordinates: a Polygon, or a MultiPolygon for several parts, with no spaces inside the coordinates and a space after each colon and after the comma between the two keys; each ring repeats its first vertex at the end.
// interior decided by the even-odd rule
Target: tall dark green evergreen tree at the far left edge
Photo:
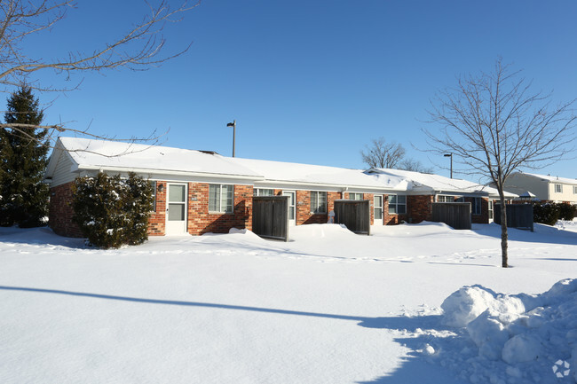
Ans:
{"type": "MultiPolygon", "coordinates": [[[[40,125],[43,111],[28,86],[8,98],[6,124],[40,125]]],[[[0,129],[0,225],[34,227],[48,215],[48,185],[43,184],[47,164],[47,129],[0,129]]]]}

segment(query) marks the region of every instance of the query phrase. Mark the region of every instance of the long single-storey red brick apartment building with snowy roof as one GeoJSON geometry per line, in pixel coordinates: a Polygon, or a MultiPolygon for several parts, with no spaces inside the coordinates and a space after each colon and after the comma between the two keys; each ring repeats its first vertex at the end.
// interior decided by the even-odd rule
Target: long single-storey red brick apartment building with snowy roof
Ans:
{"type": "Polygon", "coordinates": [[[149,235],[200,235],[251,229],[253,196],[288,196],[290,225],[327,223],[335,200],[369,200],[371,224],[431,220],[432,203],[471,203],[472,223],[489,223],[496,191],[482,184],[397,169],[335,168],[230,158],[165,146],[60,137],[46,181],[51,185],[49,224],[79,237],[72,222],[71,186],[78,176],[127,176],[154,185],[149,235]]]}

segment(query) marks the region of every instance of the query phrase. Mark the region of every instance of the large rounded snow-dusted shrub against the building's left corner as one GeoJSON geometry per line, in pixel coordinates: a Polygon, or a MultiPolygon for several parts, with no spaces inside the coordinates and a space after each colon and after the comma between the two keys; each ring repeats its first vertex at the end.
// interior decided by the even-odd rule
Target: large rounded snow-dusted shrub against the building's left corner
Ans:
{"type": "Polygon", "coordinates": [[[73,185],[73,220],[96,247],[141,244],[147,239],[153,208],[152,186],[133,173],[126,180],[99,172],[78,177],[73,185]]]}

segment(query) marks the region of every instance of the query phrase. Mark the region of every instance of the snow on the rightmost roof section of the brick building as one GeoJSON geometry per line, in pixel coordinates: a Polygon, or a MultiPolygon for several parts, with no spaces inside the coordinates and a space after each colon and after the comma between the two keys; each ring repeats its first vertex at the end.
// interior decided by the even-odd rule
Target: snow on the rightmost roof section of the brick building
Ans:
{"type": "Polygon", "coordinates": [[[406,179],[408,191],[428,192],[432,190],[432,192],[497,194],[497,190],[490,186],[473,183],[459,178],[449,178],[445,176],[391,168],[371,168],[369,171],[385,176],[397,176],[406,179]]]}

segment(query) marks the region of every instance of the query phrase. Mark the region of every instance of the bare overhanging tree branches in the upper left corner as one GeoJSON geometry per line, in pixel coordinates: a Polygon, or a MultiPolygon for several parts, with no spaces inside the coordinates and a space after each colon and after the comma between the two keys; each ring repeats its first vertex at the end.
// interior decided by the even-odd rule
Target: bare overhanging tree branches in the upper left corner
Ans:
{"type": "MultiPolygon", "coordinates": [[[[57,74],[69,77],[73,73],[100,72],[111,68],[124,67],[130,70],[146,70],[162,62],[175,58],[188,50],[164,54],[166,43],[162,29],[168,22],[180,20],[186,12],[200,3],[200,0],[181,0],[178,7],[171,7],[168,1],[162,0],[157,6],[150,5],[150,13],[138,24],[118,36],[114,41],[103,43],[89,51],[69,51],[57,59],[41,59],[31,56],[25,50],[29,37],[55,27],[63,20],[67,11],[75,7],[74,0],[2,0],[0,2],[0,84],[3,92],[10,93],[14,88],[20,89],[25,84],[33,90],[59,90],[50,85],[40,85],[32,74],[52,70],[57,74]]],[[[51,42],[53,44],[53,42],[51,42]]],[[[42,126],[27,124],[0,124],[0,129],[9,129],[12,135],[28,137],[30,129],[49,129],[48,139],[53,143],[59,132],[83,134],[88,137],[100,137],[91,134],[88,129],[71,129],[62,122],[42,126]]],[[[153,135],[130,141],[149,141],[157,138],[153,135]]]]}

